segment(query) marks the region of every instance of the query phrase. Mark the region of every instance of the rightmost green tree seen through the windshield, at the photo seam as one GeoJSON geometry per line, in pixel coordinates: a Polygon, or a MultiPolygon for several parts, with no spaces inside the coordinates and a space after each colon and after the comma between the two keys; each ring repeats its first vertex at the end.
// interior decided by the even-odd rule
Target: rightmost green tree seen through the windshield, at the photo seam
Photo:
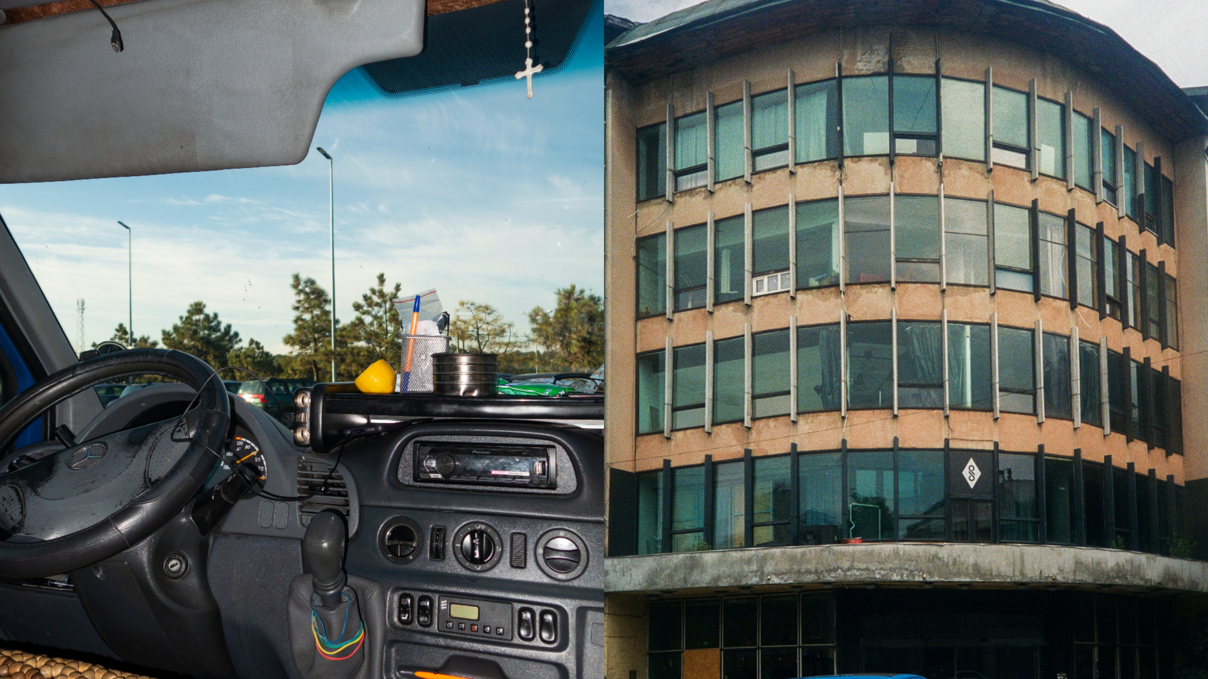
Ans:
{"type": "Polygon", "coordinates": [[[533,340],[571,370],[596,370],[604,362],[604,300],[571,284],[554,291],[553,312],[529,312],[533,340]]]}

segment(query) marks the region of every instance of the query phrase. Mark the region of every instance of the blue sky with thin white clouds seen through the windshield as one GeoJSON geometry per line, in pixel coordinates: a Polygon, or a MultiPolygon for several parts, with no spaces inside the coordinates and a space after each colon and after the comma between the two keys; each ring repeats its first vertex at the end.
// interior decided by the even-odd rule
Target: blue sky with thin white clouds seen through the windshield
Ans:
{"type": "MultiPolygon", "coordinates": [[[[523,64],[517,64],[517,70],[523,64]]],[[[436,288],[528,330],[571,283],[603,291],[603,19],[557,72],[435,94],[379,97],[359,69],[327,95],[312,149],[335,157],[337,317],[378,272],[436,288]]],[[[4,216],[72,344],[127,318],[159,338],[193,300],[274,352],[292,331],[290,274],[330,291],[327,161],[275,168],[0,185],[4,216]]]]}

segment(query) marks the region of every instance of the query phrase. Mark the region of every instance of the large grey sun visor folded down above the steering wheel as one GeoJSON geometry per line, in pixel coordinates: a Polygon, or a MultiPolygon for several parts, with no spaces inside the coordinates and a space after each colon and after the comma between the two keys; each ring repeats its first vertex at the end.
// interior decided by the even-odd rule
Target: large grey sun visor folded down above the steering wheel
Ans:
{"type": "Polygon", "coordinates": [[[417,54],[424,0],[141,0],[0,27],[0,182],[301,162],[331,86],[417,54]]]}

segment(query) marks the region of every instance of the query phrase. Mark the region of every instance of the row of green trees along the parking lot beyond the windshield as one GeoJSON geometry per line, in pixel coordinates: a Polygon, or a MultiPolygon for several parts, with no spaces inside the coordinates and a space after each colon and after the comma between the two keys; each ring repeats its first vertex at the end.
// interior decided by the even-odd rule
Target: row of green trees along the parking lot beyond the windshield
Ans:
{"type": "MultiPolygon", "coordinates": [[[[281,338],[289,347],[274,354],[249,337],[246,344],[231,324],[222,323],[217,312],[208,312],[205,302],[188,304],[178,323],[159,332],[159,340],[147,335],[130,337],[124,324],[117,324],[111,341],[126,347],[163,346],[193,354],[214,367],[236,366],[260,377],[291,377],[326,381],[331,376],[331,297],[313,278],[295,273],[294,331],[281,338]]],[[[393,300],[400,297],[402,284],[387,284],[377,274],[361,298],[353,302],[353,320],[336,319],[337,381],[352,381],[370,364],[384,359],[397,370],[402,350],[400,324],[393,300]]],[[[411,319],[403,319],[407,324],[411,319]]],[[[499,354],[499,371],[591,372],[604,361],[604,301],[574,284],[554,291],[554,307],[534,307],[528,313],[530,333],[522,335],[499,309],[471,300],[461,300],[449,313],[449,350],[499,354]]],[[[95,343],[93,344],[95,347],[95,343]]],[[[246,376],[223,376],[243,379],[246,376]]]]}

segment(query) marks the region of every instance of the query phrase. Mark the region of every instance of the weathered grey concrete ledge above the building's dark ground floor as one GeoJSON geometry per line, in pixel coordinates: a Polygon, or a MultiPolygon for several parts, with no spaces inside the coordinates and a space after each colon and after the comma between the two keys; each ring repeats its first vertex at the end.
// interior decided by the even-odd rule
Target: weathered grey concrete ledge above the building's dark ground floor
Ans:
{"type": "Polygon", "coordinates": [[[943,582],[1208,592],[1208,562],[1097,547],[964,542],[753,547],[604,559],[605,592],[943,582]]]}

